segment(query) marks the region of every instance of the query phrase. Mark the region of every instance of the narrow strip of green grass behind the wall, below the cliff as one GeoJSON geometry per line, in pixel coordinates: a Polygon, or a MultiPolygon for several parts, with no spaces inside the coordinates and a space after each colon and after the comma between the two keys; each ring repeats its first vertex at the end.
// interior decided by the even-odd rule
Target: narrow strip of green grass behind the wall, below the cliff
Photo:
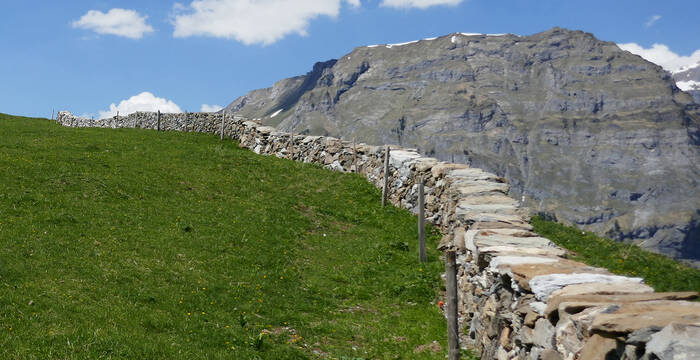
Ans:
{"type": "Polygon", "coordinates": [[[535,231],[573,251],[575,260],[604,267],[616,274],[643,277],[656,291],[700,291],[700,270],[631,244],[618,243],[541,217],[535,231]]]}

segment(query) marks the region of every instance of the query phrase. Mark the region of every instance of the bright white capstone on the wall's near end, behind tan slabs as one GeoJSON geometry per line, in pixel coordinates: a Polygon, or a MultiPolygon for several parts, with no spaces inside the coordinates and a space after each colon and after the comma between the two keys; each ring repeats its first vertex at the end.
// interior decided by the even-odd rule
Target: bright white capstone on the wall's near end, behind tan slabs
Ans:
{"type": "MultiPolygon", "coordinates": [[[[589,269],[595,269],[590,268],[589,269]]],[[[573,270],[573,269],[571,269],[573,270]]],[[[553,271],[550,273],[543,273],[541,275],[536,275],[530,279],[528,282],[528,288],[535,294],[538,300],[546,301],[549,295],[555,290],[561,289],[567,285],[573,284],[584,284],[584,283],[621,283],[621,282],[637,282],[639,284],[644,282],[642,278],[630,278],[626,276],[610,275],[605,269],[597,269],[597,271],[569,271],[569,272],[557,272],[556,269],[542,269],[540,273],[546,271],[553,271]]]]}

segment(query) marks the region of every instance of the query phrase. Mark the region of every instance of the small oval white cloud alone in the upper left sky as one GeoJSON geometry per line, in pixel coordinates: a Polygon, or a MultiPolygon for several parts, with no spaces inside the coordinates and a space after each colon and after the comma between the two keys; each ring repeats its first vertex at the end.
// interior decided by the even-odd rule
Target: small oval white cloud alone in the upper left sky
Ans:
{"type": "Polygon", "coordinates": [[[146,24],[147,18],[148,16],[128,9],[111,9],[107,13],[90,10],[79,20],[73,21],[73,27],[92,30],[98,34],[140,39],[143,34],[153,32],[153,28],[146,24]]]}

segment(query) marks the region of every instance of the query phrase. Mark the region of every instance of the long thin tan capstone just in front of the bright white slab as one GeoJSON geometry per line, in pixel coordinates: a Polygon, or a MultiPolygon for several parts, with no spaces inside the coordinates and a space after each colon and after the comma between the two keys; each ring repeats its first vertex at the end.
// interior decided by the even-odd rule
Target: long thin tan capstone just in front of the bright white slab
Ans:
{"type": "Polygon", "coordinates": [[[698,293],[688,292],[665,292],[665,293],[642,293],[642,294],[616,294],[616,295],[567,295],[550,296],[547,300],[546,316],[553,312],[573,313],[582,309],[604,304],[626,304],[643,301],[657,300],[693,300],[698,298],[698,293]]]}

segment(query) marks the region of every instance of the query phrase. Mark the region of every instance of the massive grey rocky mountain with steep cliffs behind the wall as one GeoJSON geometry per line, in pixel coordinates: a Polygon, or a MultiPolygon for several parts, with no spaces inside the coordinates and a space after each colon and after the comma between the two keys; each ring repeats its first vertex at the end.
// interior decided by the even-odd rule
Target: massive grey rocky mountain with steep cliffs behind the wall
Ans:
{"type": "Polygon", "coordinates": [[[227,110],[484,168],[533,212],[700,259],[700,106],[661,67],[588,33],[359,47],[227,110]]]}

